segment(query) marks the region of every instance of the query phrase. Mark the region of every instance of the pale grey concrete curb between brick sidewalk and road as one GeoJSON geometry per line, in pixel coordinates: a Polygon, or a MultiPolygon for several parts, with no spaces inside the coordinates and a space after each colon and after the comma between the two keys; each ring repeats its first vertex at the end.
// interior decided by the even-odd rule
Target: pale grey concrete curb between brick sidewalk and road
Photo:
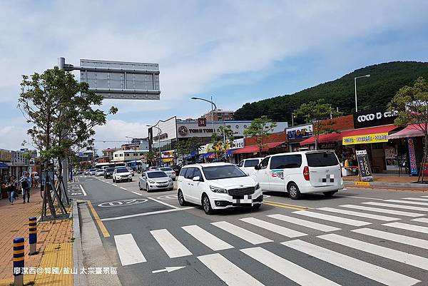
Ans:
{"type": "MultiPolygon", "coordinates": [[[[78,270],[83,267],[83,249],[81,241],[81,227],[80,227],[80,217],[78,214],[78,202],[73,200],[73,265],[78,270]]],[[[87,286],[88,280],[86,275],[81,275],[76,273],[73,275],[73,285],[74,286],[87,286]]]]}

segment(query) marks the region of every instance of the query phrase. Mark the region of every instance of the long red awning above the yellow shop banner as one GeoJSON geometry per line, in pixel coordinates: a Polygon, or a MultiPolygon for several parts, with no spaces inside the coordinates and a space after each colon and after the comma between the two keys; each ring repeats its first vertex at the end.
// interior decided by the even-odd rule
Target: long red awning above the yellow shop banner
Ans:
{"type": "MultiPolygon", "coordinates": [[[[373,133],[389,133],[390,131],[397,128],[394,125],[385,125],[385,126],[377,126],[377,127],[369,127],[369,128],[360,128],[360,129],[352,129],[348,131],[342,131],[341,133],[328,133],[321,134],[318,138],[318,143],[330,143],[342,141],[343,137],[348,136],[357,136],[357,135],[365,135],[365,134],[373,134],[373,133]]],[[[300,142],[300,145],[310,145],[315,144],[315,136],[307,138],[305,141],[300,142]]]]}

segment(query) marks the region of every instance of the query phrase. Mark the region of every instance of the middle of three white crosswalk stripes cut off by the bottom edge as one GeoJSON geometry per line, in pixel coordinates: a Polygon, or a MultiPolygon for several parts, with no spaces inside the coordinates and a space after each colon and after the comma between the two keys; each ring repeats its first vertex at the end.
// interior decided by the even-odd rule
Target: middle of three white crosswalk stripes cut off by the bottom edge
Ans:
{"type": "Polygon", "coordinates": [[[339,286],[339,284],[328,280],[325,277],[317,275],[310,270],[307,270],[293,262],[275,255],[274,253],[265,250],[262,247],[245,248],[240,250],[254,260],[266,265],[272,270],[280,273],[288,279],[296,282],[298,285],[312,286],[316,281],[317,286],[339,286]]]}

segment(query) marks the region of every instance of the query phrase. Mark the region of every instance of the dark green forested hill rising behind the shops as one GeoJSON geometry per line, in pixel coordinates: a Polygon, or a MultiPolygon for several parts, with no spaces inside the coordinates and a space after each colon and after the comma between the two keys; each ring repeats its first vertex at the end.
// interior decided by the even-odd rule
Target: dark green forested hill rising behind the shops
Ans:
{"type": "MultiPolygon", "coordinates": [[[[370,74],[370,78],[357,80],[358,110],[384,107],[394,94],[405,85],[412,85],[418,76],[428,78],[428,63],[393,61],[360,68],[335,81],[328,81],[303,91],[263,101],[245,103],[235,112],[235,120],[253,120],[269,116],[274,121],[291,122],[291,113],[302,103],[324,98],[343,113],[355,111],[354,78],[370,74]]],[[[298,118],[297,118],[298,121],[298,118]]]]}

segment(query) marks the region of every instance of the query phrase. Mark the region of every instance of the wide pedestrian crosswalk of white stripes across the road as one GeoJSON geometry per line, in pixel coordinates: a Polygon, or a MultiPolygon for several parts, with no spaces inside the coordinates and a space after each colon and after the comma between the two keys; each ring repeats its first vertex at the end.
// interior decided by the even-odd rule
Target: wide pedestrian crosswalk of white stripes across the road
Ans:
{"type": "MultiPolygon", "coordinates": [[[[150,235],[163,250],[157,255],[170,259],[194,255],[199,267],[229,286],[272,285],[261,279],[263,275],[255,275],[255,267],[298,285],[342,285],[343,275],[327,275],[332,270],[326,267],[352,272],[365,285],[370,280],[373,285],[415,285],[423,279],[412,277],[414,273],[428,280],[427,272],[417,272],[428,270],[428,239],[424,238],[428,208],[414,204],[424,203],[422,199],[366,201],[257,218],[250,213],[228,221],[150,230],[150,235]],[[253,261],[252,267],[248,260],[253,261]],[[404,273],[399,265],[415,270],[404,273]]],[[[131,233],[115,235],[114,240],[122,265],[150,262],[146,257],[153,257],[149,252],[156,248],[138,245],[131,233]]]]}

